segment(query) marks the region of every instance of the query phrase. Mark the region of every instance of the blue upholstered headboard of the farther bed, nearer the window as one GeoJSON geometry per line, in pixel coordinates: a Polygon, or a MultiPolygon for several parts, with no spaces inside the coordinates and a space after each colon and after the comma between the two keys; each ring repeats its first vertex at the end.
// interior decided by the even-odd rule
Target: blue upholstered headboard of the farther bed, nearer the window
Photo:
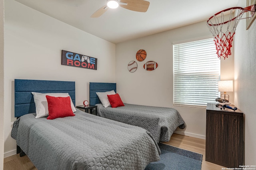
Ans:
{"type": "Polygon", "coordinates": [[[107,92],[114,90],[116,92],[116,83],[96,83],[96,82],[90,82],[90,97],[89,97],[89,104],[95,105],[99,104],[100,99],[98,98],[96,92],[107,92]]]}

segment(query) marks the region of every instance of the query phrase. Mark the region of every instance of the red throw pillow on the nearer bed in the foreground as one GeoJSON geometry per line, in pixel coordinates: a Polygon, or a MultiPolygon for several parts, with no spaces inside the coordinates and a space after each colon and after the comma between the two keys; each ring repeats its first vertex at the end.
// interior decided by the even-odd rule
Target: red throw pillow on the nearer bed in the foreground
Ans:
{"type": "Polygon", "coordinates": [[[58,117],[74,116],[70,104],[70,97],[52,97],[46,95],[48,102],[49,116],[47,119],[56,119],[58,117]]]}

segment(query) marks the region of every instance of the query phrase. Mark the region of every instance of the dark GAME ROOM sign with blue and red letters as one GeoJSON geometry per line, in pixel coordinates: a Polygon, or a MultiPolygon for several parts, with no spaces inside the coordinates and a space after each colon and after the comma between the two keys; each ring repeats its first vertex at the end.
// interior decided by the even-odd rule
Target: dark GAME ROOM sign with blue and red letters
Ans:
{"type": "Polygon", "coordinates": [[[86,55],[62,50],[61,64],[97,70],[97,59],[86,55]]]}

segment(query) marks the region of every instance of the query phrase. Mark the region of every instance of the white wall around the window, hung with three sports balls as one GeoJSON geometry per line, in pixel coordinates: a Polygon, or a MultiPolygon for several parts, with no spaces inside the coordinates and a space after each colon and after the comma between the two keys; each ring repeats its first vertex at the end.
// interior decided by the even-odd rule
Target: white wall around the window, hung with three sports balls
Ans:
{"type": "MultiPolygon", "coordinates": [[[[206,21],[202,21],[117,44],[116,83],[117,91],[123,102],[173,107],[172,44],[211,37],[212,35],[206,26],[206,21]],[[136,60],[136,52],[139,49],[144,49],[147,52],[145,61],[139,62],[136,60]],[[127,69],[128,63],[132,60],[138,63],[138,69],[133,73],[127,69]],[[143,64],[146,61],[156,61],[158,68],[153,71],[144,70],[143,64]]],[[[222,80],[233,80],[233,57],[230,56],[228,59],[221,60],[222,80]]],[[[229,94],[230,102],[233,102],[233,93],[229,94]]],[[[205,139],[206,109],[174,108],[180,112],[187,125],[185,130],[177,129],[176,133],[205,139]]]]}

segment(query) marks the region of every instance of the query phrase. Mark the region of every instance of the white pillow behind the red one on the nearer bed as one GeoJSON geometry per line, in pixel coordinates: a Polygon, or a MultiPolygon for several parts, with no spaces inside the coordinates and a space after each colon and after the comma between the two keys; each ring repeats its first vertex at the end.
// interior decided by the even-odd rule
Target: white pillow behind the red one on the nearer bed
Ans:
{"type": "MultiPolygon", "coordinates": [[[[48,103],[46,99],[46,95],[53,97],[70,97],[68,93],[37,93],[31,92],[34,95],[34,102],[36,104],[36,118],[45,117],[49,115],[48,111],[48,103]]],[[[76,111],[76,107],[74,106],[72,99],[70,97],[70,104],[72,111],[76,111]]]]}

